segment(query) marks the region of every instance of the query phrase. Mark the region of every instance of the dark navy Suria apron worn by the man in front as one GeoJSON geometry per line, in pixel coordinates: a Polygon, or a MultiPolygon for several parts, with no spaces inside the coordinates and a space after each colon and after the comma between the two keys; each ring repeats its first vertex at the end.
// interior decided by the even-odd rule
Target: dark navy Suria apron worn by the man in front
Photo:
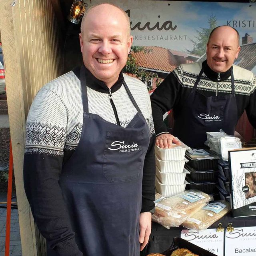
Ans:
{"type": "Polygon", "coordinates": [[[126,128],[89,113],[84,67],[80,75],[82,134],[59,181],[76,242],[84,256],[139,256],[143,165],[150,142],[148,124],[125,82],[138,111],[126,128]]]}

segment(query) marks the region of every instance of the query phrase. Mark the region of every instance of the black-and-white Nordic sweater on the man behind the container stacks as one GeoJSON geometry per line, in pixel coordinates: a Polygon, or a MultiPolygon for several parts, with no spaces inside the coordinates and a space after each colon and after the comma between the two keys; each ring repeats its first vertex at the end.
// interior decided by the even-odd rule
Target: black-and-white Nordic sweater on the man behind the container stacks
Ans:
{"type": "Polygon", "coordinates": [[[163,114],[173,109],[174,122],[182,105],[191,92],[196,78],[204,66],[204,72],[196,87],[196,90],[205,96],[223,96],[231,93],[231,69],[233,69],[235,95],[237,104],[237,120],[246,110],[246,114],[252,126],[256,128],[256,78],[251,71],[233,65],[229,70],[220,74],[212,71],[207,62],[194,62],[181,64],[174,69],[164,81],[151,94],[152,114],[156,136],[166,133],[166,125],[163,122],[163,114]]]}

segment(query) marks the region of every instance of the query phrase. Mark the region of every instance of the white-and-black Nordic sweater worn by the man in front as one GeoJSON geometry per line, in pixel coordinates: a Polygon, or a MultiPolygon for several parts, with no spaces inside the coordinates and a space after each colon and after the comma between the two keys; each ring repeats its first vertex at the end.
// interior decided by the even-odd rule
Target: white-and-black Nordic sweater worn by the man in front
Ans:
{"type": "MultiPolygon", "coordinates": [[[[124,86],[126,81],[150,129],[142,181],[142,212],[154,209],[155,133],[146,85],[126,74],[112,86],[120,125],[126,127],[137,113],[124,86]]],[[[109,89],[86,70],[89,112],[117,124],[108,98],[109,89]]],[[[83,106],[80,68],[52,80],[37,93],[26,122],[24,187],[36,224],[50,247],[60,255],[81,255],[67,215],[58,179],[80,140],[83,106]]]]}

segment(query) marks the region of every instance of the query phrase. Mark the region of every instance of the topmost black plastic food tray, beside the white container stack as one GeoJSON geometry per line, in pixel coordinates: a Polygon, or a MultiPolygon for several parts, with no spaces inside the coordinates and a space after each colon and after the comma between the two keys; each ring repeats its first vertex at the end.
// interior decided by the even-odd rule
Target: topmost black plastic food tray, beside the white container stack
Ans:
{"type": "Polygon", "coordinates": [[[215,154],[214,152],[211,152],[210,150],[207,150],[207,149],[204,149],[204,150],[209,152],[209,154],[216,156],[217,158],[213,158],[213,159],[201,158],[200,160],[197,160],[197,159],[195,160],[195,159],[192,159],[186,152],[186,158],[189,160],[189,165],[197,171],[208,171],[208,170],[216,169],[218,160],[220,157],[218,158],[218,155],[215,154]]]}

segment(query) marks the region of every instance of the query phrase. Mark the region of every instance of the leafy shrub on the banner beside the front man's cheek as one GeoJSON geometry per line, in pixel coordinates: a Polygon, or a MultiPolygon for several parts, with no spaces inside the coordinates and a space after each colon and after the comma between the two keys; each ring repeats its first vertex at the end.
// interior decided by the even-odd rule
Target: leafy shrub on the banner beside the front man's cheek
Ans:
{"type": "Polygon", "coordinates": [[[145,71],[143,68],[136,64],[136,59],[132,56],[132,52],[141,52],[144,51],[150,52],[150,50],[146,50],[143,46],[132,46],[131,52],[128,55],[128,59],[126,62],[126,66],[123,68],[123,72],[130,73],[139,78],[142,82],[147,84],[148,91],[152,90],[152,81],[156,81],[156,86],[160,84],[160,79],[158,79],[158,74],[154,72],[145,71]]]}

